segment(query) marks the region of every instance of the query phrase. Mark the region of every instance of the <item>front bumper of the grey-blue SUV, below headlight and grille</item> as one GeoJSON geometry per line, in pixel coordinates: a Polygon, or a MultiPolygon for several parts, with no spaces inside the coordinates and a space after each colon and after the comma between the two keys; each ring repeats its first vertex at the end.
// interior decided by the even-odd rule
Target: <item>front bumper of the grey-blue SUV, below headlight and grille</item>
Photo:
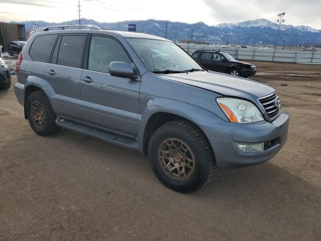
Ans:
{"type": "Polygon", "coordinates": [[[201,127],[212,145],[217,167],[239,168],[256,165],[274,157],[287,140],[289,114],[283,112],[272,123],[253,124],[231,123],[220,132],[211,127],[201,127]],[[219,135],[218,135],[219,133],[219,135]],[[265,143],[274,141],[262,153],[242,153],[236,146],[238,143],[265,143]]]}

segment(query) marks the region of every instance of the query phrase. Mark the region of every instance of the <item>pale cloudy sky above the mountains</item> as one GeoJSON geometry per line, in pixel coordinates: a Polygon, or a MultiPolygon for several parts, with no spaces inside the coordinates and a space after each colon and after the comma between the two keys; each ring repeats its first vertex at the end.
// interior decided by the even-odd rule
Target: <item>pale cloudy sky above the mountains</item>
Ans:
{"type": "MultiPolygon", "coordinates": [[[[0,22],[77,19],[76,0],[0,0],[0,22]]],[[[208,25],[255,19],[321,29],[321,0],[82,0],[81,17],[98,22],[169,20],[208,25]]]]}

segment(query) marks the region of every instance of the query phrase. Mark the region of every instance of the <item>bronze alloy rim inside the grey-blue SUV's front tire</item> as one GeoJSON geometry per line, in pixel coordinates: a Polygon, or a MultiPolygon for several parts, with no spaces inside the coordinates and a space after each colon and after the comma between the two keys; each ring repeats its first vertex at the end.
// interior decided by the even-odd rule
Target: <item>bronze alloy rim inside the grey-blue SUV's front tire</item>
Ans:
{"type": "Polygon", "coordinates": [[[195,169],[194,155],[186,143],[168,139],[158,149],[158,160],[163,171],[171,178],[188,179],[195,169]]]}

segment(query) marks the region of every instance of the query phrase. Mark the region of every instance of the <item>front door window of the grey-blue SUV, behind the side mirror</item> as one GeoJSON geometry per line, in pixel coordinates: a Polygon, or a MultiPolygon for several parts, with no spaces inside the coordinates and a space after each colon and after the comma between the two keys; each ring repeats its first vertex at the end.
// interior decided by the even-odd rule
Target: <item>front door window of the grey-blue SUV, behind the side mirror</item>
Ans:
{"type": "Polygon", "coordinates": [[[91,37],[88,69],[109,73],[109,64],[113,61],[130,63],[130,60],[118,42],[106,37],[91,37]]]}

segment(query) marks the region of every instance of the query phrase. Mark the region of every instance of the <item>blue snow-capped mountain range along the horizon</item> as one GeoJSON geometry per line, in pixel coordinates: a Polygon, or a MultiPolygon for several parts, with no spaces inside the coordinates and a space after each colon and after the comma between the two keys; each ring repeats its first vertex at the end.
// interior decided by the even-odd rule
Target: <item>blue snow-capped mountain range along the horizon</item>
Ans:
{"type": "MultiPolygon", "coordinates": [[[[182,40],[204,41],[211,44],[275,44],[278,31],[278,24],[266,19],[257,19],[245,21],[236,24],[218,24],[209,26],[203,22],[187,24],[182,22],[170,22],[164,20],[133,20],[115,23],[99,23],[92,19],[81,19],[81,24],[96,25],[101,28],[111,30],[128,31],[128,24],[136,24],[136,31],[165,37],[165,26],[167,24],[167,38],[180,42],[182,40]]],[[[47,23],[43,21],[21,22],[26,25],[26,30],[32,29],[32,24],[38,24],[39,27],[54,25],[74,25],[78,20],[72,20],[62,23],[47,23]]],[[[292,26],[281,24],[278,38],[278,45],[293,46],[304,44],[321,43],[321,30],[316,30],[308,26],[292,26]]]]}

